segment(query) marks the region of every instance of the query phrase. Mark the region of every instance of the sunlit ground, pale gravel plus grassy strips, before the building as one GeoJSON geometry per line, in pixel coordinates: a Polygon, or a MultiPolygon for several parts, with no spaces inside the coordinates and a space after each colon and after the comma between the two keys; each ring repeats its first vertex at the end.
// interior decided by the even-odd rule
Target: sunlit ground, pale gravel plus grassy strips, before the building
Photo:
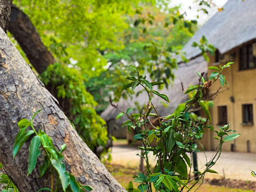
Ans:
{"type": "MultiPolygon", "coordinates": [[[[140,153],[136,146],[126,145],[126,141],[114,142],[112,148],[113,160],[106,166],[113,177],[125,188],[132,176],[138,172],[140,153]]],[[[198,153],[198,165],[203,167],[206,158],[211,158],[213,151],[198,153]]],[[[154,159],[151,159],[154,161],[154,159]]],[[[218,174],[207,174],[204,184],[199,188],[201,192],[249,192],[256,191],[256,178],[250,170],[256,170],[256,154],[223,152],[219,161],[213,167],[218,174]],[[239,165],[239,166],[238,166],[239,165]]]]}

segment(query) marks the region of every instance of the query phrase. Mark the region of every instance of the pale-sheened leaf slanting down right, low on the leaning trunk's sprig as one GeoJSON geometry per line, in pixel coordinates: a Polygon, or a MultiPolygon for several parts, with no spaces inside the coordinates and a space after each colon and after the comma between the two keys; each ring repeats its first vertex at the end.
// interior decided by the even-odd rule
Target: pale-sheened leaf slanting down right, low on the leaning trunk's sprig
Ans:
{"type": "Polygon", "coordinates": [[[68,185],[70,185],[70,174],[66,172],[66,167],[63,162],[56,161],[56,159],[51,158],[52,166],[57,170],[60,177],[60,182],[62,183],[63,191],[66,191],[68,185]]]}

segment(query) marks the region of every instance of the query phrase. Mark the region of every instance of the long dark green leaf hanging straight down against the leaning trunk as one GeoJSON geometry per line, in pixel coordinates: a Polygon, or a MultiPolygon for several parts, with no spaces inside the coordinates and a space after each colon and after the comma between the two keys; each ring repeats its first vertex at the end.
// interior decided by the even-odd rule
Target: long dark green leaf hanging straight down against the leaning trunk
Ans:
{"type": "Polygon", "coordinates": [[[30,175],[31,172],[36,167],[36,163],[38,161],[38,156],[41,154],[39,147],[41,146],[40,137],[38,135],[34,136],[30,142],[29,150],[30,154],[28,156],[28,174],[30,175]]]}

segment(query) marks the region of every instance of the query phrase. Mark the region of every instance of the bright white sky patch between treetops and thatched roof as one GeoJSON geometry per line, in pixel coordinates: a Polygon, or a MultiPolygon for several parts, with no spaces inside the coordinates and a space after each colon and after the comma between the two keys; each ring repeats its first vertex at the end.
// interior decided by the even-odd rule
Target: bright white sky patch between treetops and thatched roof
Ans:
{"type": "Polygon", "coordinates": [[[196,6],[196,4],[194,3],[194,0],[172,0],[172,2],[170,3],[170,6],[178,6],[181,4],[182,5],[181,12],[186,11],[187,19],[198,20],[199,25],[203,25],[205,22],[207,22],[207,20],[209,20],[210,17],[212,17],[218,11],[218,8],[223,7],[227,1],[228,0],[212,0],[212,2],[214,2],[216,7],[207,9],[209,12],[208,15],[204,14],[202,11],[198,12],[199,6],[196,6]],[[191,6],[191,10],[188,9],[188,7],[190,6],[191,6]],[[199,19],[196,18],[196,15],[199,15],[199,19]]]}

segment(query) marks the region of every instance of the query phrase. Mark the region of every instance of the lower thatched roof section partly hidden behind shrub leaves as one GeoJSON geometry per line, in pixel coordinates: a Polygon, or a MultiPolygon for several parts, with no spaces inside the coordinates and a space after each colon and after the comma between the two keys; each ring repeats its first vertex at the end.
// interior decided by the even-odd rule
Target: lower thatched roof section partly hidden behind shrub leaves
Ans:
{"type": "MultiPolygon", "coordinates": [[[[198,84],[199,76],[196,72],[202,73],[207,72],[207,62],[204,60],[202,56],[196,57],[193,60],[190,60],[188,63],[182,63],[178,65],[178,70],[174,70],[175,80],[173,86],[169,86],[169,89],[158,90],[161,94],[166,94],[169,97],[170,103],[167,103],[168,107],[164,107],[161,103],[164,102],[162,98],[155,97],[153,98],[153,104],[158,110],[158,113],[161,116],[166,116],[174,112],[175,108],[178,104],[184,102],[187,98],[184,95],[184,92],[190,84],[198,84]],[[181,82],[183,83],[184,91],[182,92],[181,82]]],[[[141,105],[146,104],[148,102],[148,98],[146,94],[140,94],[138,97],[134,95],[131,99],[124,100],[121,98],[118,102],[118,106],[121,110],[126,111],[130,106],[135,106],[135,102],[139,102],[141,105]]],[[[134,111],[138,113],[138,111],[134,111]]],[[[110,119],[115,119],[118,115],[119,111],[112,106],[108,106],[105,111],[102,112],[101,117],[105,119],[105,121],[109,121],[110,119]]],[[[127,121],[125,118],[118,119],[119,123],[127,121]]]]}

